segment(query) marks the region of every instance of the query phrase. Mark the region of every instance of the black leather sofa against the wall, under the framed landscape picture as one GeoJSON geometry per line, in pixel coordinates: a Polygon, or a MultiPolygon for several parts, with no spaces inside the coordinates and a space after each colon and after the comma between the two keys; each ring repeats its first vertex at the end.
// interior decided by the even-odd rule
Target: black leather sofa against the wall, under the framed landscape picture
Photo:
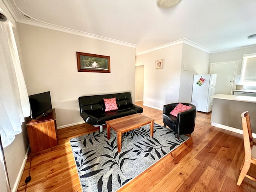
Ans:
{"type": "Polygon", "coordinates": [[[105,121],[143,112],[142,107],[132,103],[131,92],[82,96],[78,98],[78,101],[80,115],[83,120],[93,126],[100,126],[100,131],[103,131],[105,121]],[[103,99],[113,97],[116,97],[118,109],[105,112],[105,104],[103,99]]]}

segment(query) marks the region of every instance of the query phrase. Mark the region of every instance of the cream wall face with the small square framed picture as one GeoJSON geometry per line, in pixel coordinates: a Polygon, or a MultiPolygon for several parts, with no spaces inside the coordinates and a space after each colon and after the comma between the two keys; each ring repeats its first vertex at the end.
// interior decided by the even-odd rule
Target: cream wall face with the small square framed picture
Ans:
{"type": "Polygon", "coordinates": [[[176,44],[136,56],[136,66],[144,65],[144,105],[163,109],[179,100],[182,47],[176,44]],[[163,68],[156,69],[159,59],[164,59],[163,68]]]}

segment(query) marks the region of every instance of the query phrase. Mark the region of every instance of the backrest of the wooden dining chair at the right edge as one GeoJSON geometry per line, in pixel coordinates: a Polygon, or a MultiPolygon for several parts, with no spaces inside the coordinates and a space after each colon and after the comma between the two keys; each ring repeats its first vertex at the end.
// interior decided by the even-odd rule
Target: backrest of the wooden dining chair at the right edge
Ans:
{"type": "Polygon", "coordinates": [[[242,126],[243,126],[243,136],[244,136],[244,151],[245,159],[251,159],[251,145],[253,145],[253,135],[250,125],[249,112],[245,111],[241,114],[242,126]]]}

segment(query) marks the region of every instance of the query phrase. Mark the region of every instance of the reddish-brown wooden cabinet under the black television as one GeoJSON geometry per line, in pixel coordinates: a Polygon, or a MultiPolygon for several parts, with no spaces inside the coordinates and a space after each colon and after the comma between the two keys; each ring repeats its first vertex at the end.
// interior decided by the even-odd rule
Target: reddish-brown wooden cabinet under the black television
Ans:
{"type": "Polygon", "coordinates": [[[27,122],[32,156],[59,148],[55,109],[51,110],[52,112],[49,112],[48,115],[27,122]]]}

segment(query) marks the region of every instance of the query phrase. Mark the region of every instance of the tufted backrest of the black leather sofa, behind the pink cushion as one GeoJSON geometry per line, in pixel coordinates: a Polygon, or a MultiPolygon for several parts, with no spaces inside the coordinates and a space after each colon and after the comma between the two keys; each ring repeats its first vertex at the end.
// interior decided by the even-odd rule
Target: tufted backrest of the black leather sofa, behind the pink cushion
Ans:
{"type": "Polygon", "coordinates": [[[80,113],[82,113],[83,110],[104,112],[105,104],[103,99],[109,99],[113,97],[116,97],[116,104],[118,109],[125,109],[133,106],[131,92],[82,96],[78,98],[80,113]]]}

